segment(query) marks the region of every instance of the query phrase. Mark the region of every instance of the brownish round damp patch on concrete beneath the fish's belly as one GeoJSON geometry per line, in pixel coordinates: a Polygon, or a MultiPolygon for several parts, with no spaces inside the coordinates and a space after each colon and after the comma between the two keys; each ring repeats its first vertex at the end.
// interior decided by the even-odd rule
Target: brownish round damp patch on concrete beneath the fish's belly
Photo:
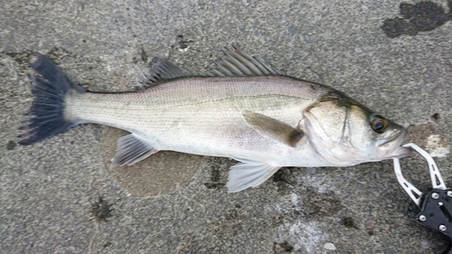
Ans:
{"type": "MultiPolygon", "coordinates": [[[[102,136],[102,154],[108,167],[111,158],[116,154],[118,138],[127,134],[126,131],[117,128],[105,128],[102,136]]],[[[136,197],[148,197],[174,192],[181,188],[207,160],[206,156],[162,151],[136,165],[112,168],[110,173],[127,193],[136,197]]]]}

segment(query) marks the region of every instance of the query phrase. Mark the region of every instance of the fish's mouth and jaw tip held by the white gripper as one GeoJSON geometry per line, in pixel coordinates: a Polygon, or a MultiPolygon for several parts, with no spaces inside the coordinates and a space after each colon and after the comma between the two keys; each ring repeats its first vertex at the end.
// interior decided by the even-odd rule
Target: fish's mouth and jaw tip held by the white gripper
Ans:
{"type": "Polygon", "coordinates": [[[380,140],[380,144],[378,146],[387,151],[385,157],[401,158],[411,154],[413,150],[410,147],[401,146],[407,136],[407,133],[406,129],[402,129],[399,134],[380,140]]]}

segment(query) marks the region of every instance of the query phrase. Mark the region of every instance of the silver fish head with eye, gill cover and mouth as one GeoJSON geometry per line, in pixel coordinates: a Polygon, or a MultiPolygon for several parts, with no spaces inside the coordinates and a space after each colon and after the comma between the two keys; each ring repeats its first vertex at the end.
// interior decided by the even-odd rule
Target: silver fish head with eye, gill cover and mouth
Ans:
{"type": "Polygon", "coordinates": [[[302,120],[316,152],[332,165],[346,166],[410,155],[404,127],[334,91],[307,108],[302,120]]]}

